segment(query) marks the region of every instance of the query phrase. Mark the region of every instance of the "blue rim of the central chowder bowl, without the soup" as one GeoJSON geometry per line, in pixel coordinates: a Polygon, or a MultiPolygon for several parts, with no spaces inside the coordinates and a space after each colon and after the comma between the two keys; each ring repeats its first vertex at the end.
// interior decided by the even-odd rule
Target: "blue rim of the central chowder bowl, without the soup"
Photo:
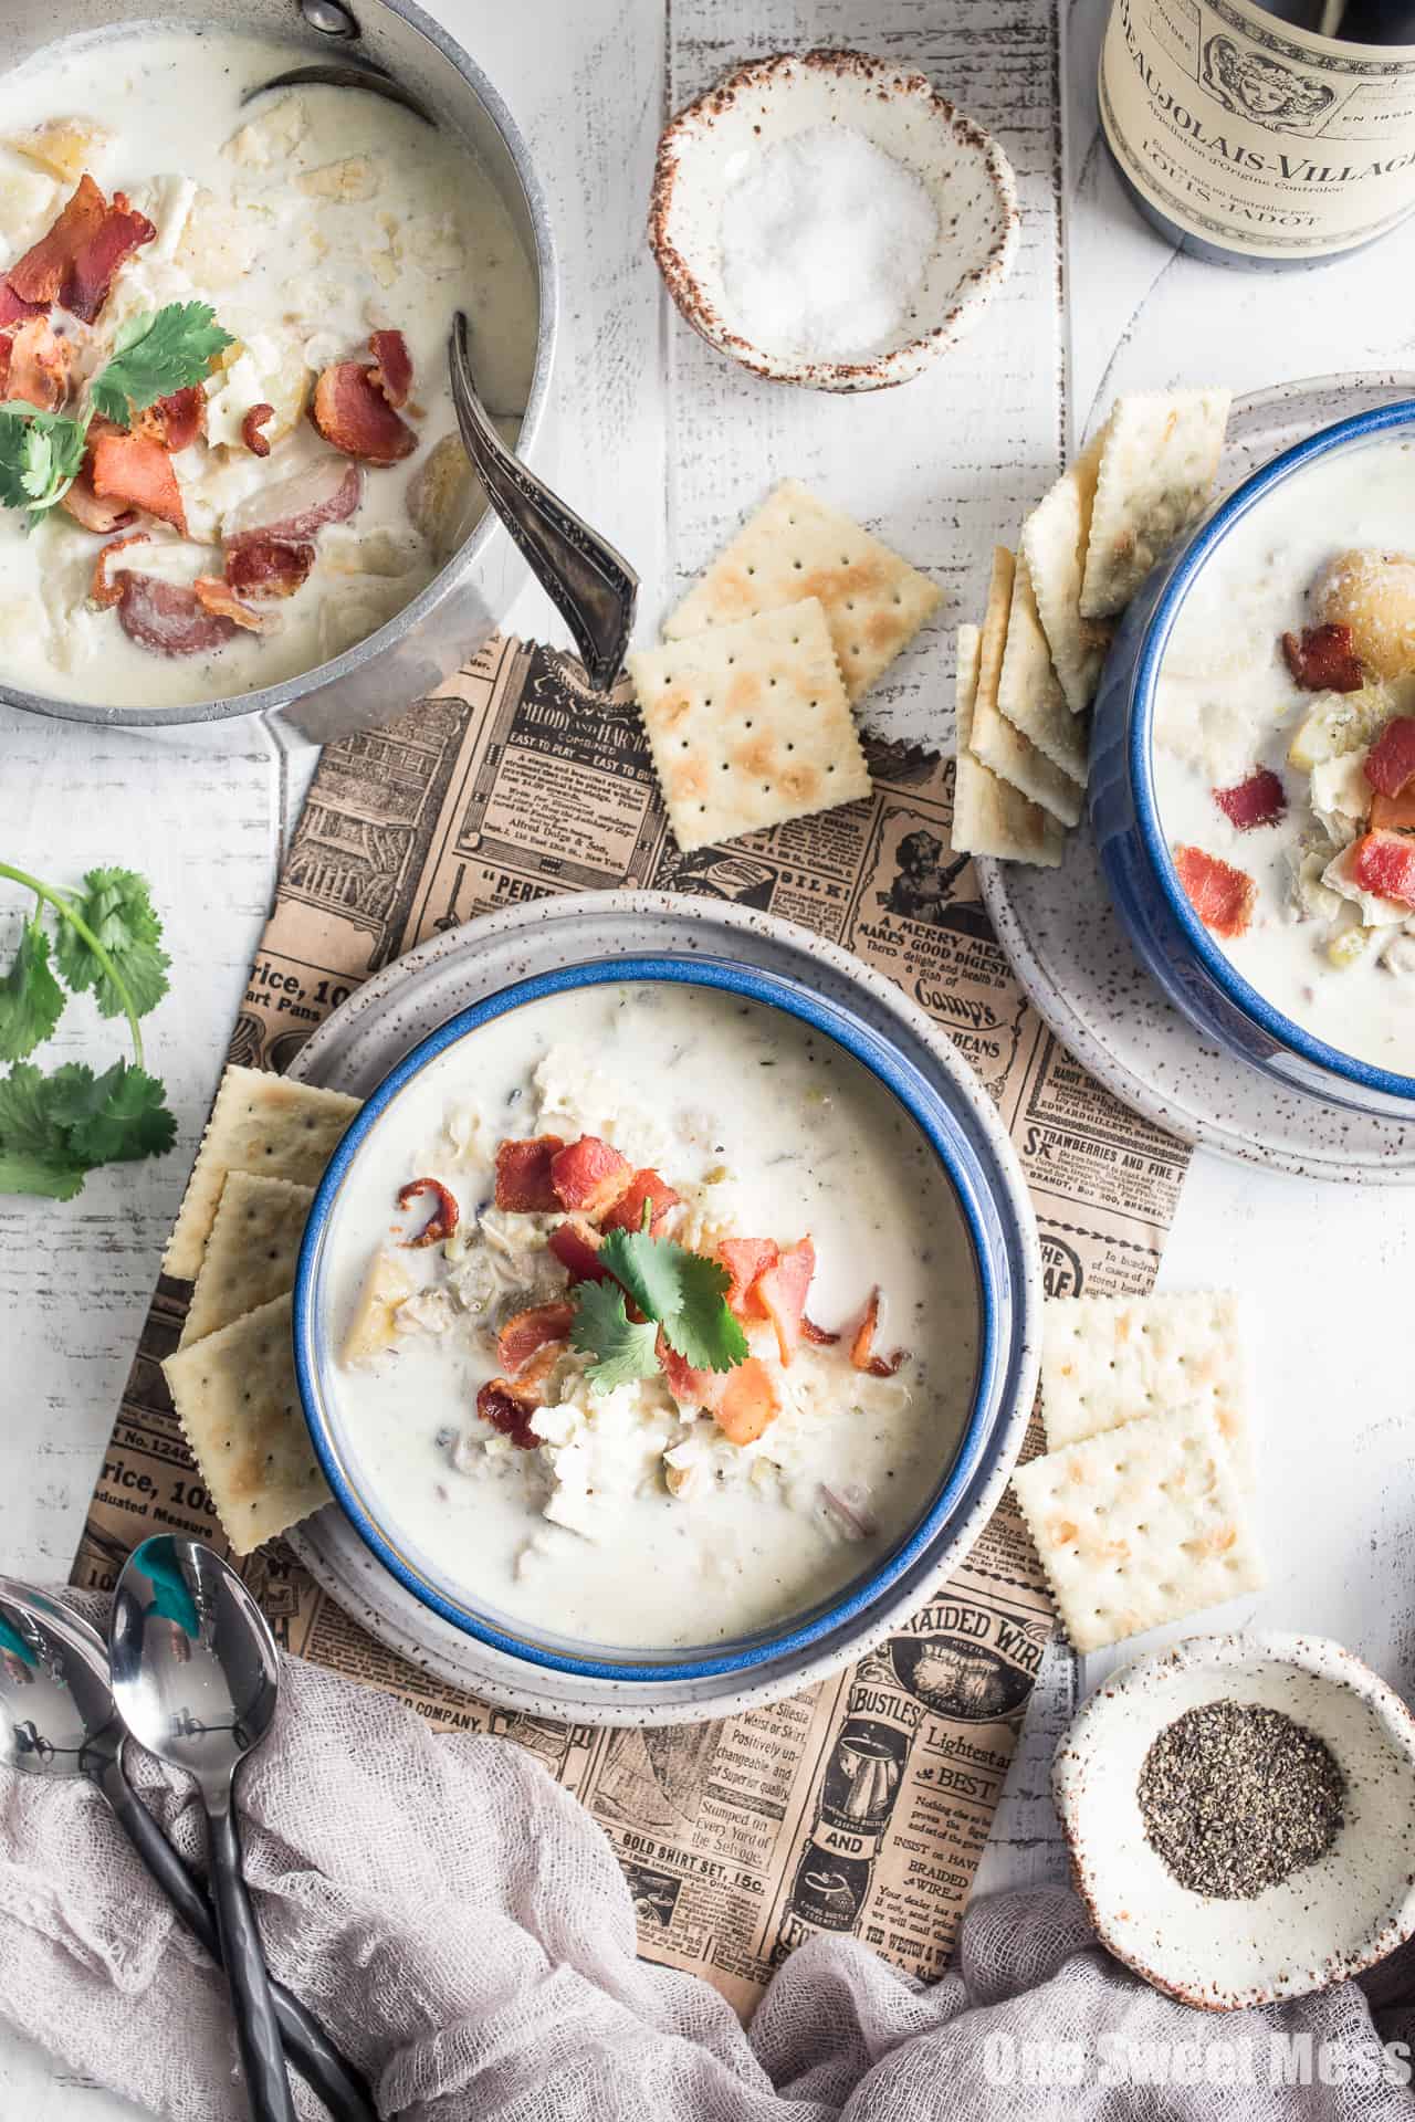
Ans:
{"type": "MultiPolygon", "coordinates": [[[[475,1050],[469,1053],[467,1065],[475,1067],[475,1050]]],[[[651,1681],[653,1685],[662,1685],[664,1681],[713,1679],[717,1674],[751,1672],[772,1657],[791,1657],[798,1651],[813,1649],[834,1630],[849,1625],[857,1615],[868,1615],[876,1600],[889,1594],[908,1566],[933,1545],[978,1468],[984,1432],[989,1428],[986,1411],[993,1405],[999,1381],[997,1282],[986,1254],[986,1237],[974,1182],[959,1161],[953,1116],[948,1114],[944,1099],[914,1067],[910,1067],[908,1061],[904,1061],[902,1055],[891,1053],[885,1040],[872,1033],[868,1025],[851,1019],[834,1004],[827,1004],[821,997],[776,978],[774,974],[757,972],[749,966],[728,966],[709,957],[596,959],[581,966],[564,966],[560,972],[545,972],[530,980],[520,980],[513,987],[503,989],[499,995],[488,995],[486,1002],[477,1002],[469,1010],[460,1010],[426,1040],[414,1046],[414,1050],[399,1061],[395,1069],[390,1069],[378,1091],[365,1101],[363,1112],[359,1112],[352,1120],[348,1133],[339,1142],[339,1148],[331,1156],[305,1220],[305,1235],[299,1248],[299,1267],[295,1273],[295,1379],[299,1384],[299,1398],[310,1426],[310,1437],[314,1439],[314,1449],[320,1466],[325,1468],[325,1479],[333,1490],[335,1502],[342,1507],[346,1517],[352,1519],[354,1528],[380,1562],[392,1570],[392,1575],[407,1585],[416,1598],[424,1600],[424,1604],[429,1604],[446,1621],[462,1628],[479,1642],[494,1645],[511,1657],[524,1657],[528,1664],[545,1666],[552,1672],[579,1672],[596,1681],[651,1681]],[[808,1025],[813,1031],[821,1031],[836,1046],[853,1055],[855,1061],[870,1069],[876,1082],[885,1084],[885,1089],[895,1095],[944,1167],[969,1233],[974,1273],[978,1275],[980,1335],[978,1364],[972,1386],[972,1409],[955,1456],[942,1475],[942,1485],[916,1526],[893,1547],[889,1555],[878,1562],[874,1570],[866,1577],[857,1577],[827,1604],[808,1608],[806,1615],[793,1617],[785,1625],[779,1623],[774,1628],[757,1630],[730,1647],[713,1651],[694,1649],[679,1657],[662,1657],[647,1651],[632,1657],[622,1651],[615,1657],[609,1651],[588,1655],[569,1647],[552,1649],[549,1642],[532,1640],[530,1634],[520,1636],[509,1634],[507,1628],[496,1628],[484,1617],[469,1596],[452,1596],[450,1587],[437,1583],[431,1575],[420,1570],[399,1547],[399,1536],[390,1524],[380,1517],[378,1502],[367,1494],[367,1490],[359,1488],[346,1454],[339,1447],[337,1422],[331,1417],[329,1396],[322,1388],[331,1356],[327,1333],[322,1330],[322,1269],[329,1222],[344,1182],[359,1161],[363,1146],[384,1120],[384,1114],[388,1114],[399,1095],[407,1091],[431,1063],[441,1061],[443,1055],[448,1055],[454,1046],[460,1046],[465,1040],[475,1042],[475,1033],[482,1025],[549,995],[579,993],[586,987],[622,987],[626,980],[664,980],[668,985],[711,987],[726,995],[740,995],[766,1008],[783,1010],[787,1016],[796,1016],[800,1023],[808,1025]]]]}

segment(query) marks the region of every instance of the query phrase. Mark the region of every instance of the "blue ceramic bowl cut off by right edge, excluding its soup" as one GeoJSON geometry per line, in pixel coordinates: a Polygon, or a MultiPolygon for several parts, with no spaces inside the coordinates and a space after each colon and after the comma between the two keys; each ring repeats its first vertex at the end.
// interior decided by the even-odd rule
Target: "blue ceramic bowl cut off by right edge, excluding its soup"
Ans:
{"type": "Polygon", "coordinates": [[[1237,972],[1190,906],[1154,794],[1154,692],[1169,637],[1228,533],[1309,465],[1385,435],[1415,435],[1404,399],[1322,429],[1243,480],[1131,603],[1112,645],[1090,738],[1090,823],[1131,942],[1177,1010],[1224,1053],[1288,1089],[1377,1118],[1415,1120],[1415,1076],[1375,1067],[1292,1023],[1237,972]]]}

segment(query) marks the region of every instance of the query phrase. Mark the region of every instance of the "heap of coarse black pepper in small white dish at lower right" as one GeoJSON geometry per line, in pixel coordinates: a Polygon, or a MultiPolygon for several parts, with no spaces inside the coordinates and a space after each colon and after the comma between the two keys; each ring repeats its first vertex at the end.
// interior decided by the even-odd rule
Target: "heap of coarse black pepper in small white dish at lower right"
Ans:
{"type": "Polygon", "coordinates": [[[1326,1857],[1345,1776],[1326,1740],[1256,1702],[1205,1702],[1165,1725],[1139,1770],[1146,1842],[1190,1893],[1252,1901],[1326,1857]]]}

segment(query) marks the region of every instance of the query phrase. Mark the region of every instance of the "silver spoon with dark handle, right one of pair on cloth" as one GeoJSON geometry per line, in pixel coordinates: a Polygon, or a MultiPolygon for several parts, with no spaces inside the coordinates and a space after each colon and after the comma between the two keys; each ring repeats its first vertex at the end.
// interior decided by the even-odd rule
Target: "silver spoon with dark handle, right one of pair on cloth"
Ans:
{"type": "Polygon", "coordinates": [[[123,1564],[108,1666],[132,1736],[193,1776],[206,1806],[216,1935],[252,2122],[295,2122],[233,1806],[235,1770],[276,1715],[280,1666],[265,1615],[210,1547],[159,1534],[123,1564]]]}

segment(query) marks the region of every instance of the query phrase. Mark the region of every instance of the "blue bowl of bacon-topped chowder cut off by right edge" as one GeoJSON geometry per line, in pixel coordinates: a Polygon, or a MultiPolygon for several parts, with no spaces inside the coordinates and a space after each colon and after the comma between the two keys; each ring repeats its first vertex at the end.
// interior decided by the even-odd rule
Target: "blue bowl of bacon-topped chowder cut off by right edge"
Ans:
{"type": "Polygon", "coordinates": [[[1090,815],[1201,1033],[1415,1120],[1415,403],[1286,450],[1146,586],[1101,679],[1090,815]]]}

